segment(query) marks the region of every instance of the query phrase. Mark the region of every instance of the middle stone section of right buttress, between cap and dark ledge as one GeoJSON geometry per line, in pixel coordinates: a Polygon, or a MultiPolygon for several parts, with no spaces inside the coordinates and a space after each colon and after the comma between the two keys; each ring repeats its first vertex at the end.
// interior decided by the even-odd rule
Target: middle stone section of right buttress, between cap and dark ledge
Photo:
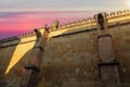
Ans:
{"type": "Polygon", "coordinates": [[[114,53],[113,39],[110,37],[101,37],[98,39],[99,55],[103,63],[113,62],[116,58],[114,53]]]}

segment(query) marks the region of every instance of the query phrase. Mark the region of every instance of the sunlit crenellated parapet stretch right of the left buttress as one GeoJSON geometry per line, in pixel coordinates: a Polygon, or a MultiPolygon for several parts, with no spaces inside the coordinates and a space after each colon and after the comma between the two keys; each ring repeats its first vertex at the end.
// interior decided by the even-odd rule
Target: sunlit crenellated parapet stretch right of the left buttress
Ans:
{"type": "MultiPolygon", "coordinates": [[[[129,10],[106,13],[106,18],[108,22],[121,21],[122,20],[121,17],[123,17],[123,20],[126,20],[129,16],[130,16],[129,10]]],[[[55,32],[55,30],[60,30],[60,29],[69,29],[73,27],[93,26],[93,25],[95,25],[95,17],[94,16],[83,18],[83,20],[74,21],[72,23],[69,23],[69,22],[65,23],[63,25],[60,25],[60,27],[57,29],[54,29],[53,27],[51,27],[50,32],[55,32]]]]}

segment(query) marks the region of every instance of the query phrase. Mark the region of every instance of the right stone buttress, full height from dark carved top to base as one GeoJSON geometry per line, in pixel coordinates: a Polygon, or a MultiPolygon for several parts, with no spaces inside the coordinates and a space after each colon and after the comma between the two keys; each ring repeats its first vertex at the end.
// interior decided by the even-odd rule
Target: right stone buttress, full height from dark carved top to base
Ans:
{"type": "Polygon", "coordinates": [[[119,63],[113,45],[113,38],[106,33],[107,20],[105,14],[95,15],[98,25],[98,52],[99,52],[99,70],[103,87],[118,87],[119,80],[119,63]]]}

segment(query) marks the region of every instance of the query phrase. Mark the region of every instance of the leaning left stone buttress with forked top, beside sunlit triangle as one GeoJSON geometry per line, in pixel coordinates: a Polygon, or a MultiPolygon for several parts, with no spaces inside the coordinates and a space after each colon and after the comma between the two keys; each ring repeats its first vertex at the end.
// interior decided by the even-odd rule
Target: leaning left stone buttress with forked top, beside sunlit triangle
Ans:
{"type": "Polygon", "coordinates": [[[35,29],[35,33],[37,35],[36,45],[31,50],[28,64],[24,67],[24,76],[22,78],[21,87],[36,87],[38,84],[38,75],[40,72],[41,58],[48,37],[48,30],[44,28],[43,34],[41,34],[38,29],[35,29]]]}

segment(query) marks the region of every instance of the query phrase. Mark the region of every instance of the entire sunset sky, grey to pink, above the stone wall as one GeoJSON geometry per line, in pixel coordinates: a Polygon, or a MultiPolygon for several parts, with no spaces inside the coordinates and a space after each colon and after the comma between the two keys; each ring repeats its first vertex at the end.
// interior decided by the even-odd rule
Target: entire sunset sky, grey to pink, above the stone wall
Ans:
{"type": "Polygon", "coordinates": [[[1,0],[0,39],[17,36],[34,28],[88,18],[98,11],[130,8],[130,0],[1,0]],[[120,7],[121,5],[121,7],[120,7]]]}

